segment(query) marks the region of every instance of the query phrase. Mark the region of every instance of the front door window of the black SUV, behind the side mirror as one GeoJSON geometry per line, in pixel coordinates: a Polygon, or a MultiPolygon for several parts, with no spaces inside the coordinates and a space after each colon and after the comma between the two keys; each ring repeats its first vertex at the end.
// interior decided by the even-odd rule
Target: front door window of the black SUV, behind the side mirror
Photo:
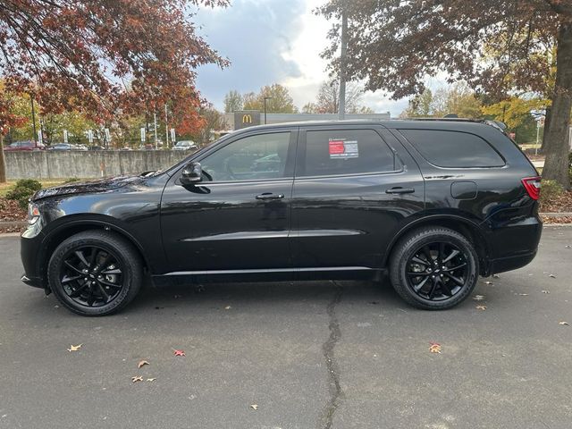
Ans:
{"type": "Polygon", "coordinates": [[[290,131],[233,141],[201,160],[206,180],[253,181],[285,177],[290,131]]]}

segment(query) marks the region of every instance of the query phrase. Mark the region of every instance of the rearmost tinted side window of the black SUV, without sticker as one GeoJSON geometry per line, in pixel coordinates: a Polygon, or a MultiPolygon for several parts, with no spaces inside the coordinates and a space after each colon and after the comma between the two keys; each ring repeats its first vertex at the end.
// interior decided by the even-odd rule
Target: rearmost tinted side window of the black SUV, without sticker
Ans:
{"type": "Polygon", "coordinates": [[[484,139],[460,131],[400,130],[431,164],[440,167],[501,167],[504,160],[484,139]]]}

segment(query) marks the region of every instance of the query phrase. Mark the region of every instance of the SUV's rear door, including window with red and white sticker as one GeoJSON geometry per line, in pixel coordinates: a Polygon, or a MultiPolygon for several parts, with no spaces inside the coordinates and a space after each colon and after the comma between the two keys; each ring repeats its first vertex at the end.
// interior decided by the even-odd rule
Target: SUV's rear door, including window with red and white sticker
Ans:
{"type": "Polygon", "coordinates": [[[380,267],[400,222],[424,209],[424,193],[415,161],[383,127],[301,128],[292,195],[294,266],[380,267]]]}

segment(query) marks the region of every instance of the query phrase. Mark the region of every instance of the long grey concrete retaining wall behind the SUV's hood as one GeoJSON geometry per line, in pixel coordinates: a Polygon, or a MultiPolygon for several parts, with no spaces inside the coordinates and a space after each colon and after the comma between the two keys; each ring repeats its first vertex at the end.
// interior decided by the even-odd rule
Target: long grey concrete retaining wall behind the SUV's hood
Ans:
{"type": "Polygon", "coordinates": [[[189,155],[174,150],[4,152],[9,180],[95,178],[162,170],[189,155]]]}

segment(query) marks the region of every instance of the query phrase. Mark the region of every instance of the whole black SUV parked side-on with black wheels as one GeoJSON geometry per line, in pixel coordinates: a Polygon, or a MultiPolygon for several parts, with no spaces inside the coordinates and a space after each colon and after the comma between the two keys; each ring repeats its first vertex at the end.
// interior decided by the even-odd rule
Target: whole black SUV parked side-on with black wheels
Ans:
{"type": "Polygon", "coordinates": [[[534,166],[493,123],[303,122],[224,136],[164,172],[39,191],[22,281],[80,315],[157,286],[380,279],[450,308],[536,254],[534,166]]]}

